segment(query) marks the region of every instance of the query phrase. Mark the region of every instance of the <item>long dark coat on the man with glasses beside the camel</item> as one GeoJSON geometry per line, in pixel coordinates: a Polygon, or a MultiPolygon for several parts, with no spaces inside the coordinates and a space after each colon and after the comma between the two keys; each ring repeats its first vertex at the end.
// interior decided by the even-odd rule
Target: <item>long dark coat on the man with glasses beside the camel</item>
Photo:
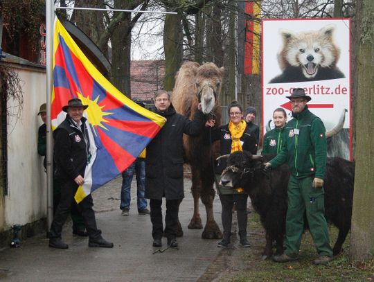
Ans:
{"type": "Polygon", "coordinates": [[[204,129],[202,112],[190,121],[177,114],[172,105],[166,112],[158,112],[167,121],[147,146],[145,157],[145,197],[148,199],[176,200],[184,198],[183,187],[183,134],[199,135],[204,129]]]}

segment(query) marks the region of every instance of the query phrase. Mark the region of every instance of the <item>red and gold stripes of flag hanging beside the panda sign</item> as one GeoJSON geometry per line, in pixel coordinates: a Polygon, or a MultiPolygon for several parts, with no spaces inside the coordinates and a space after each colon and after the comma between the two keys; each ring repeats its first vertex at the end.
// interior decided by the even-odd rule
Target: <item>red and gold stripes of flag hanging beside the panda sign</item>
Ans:
{"type": "Polygon", "coordinates": [[[258,74],[260,69],[260,17],[261,1],[246,1],[246,20],[244,44],[244,73],[258,74]]]}

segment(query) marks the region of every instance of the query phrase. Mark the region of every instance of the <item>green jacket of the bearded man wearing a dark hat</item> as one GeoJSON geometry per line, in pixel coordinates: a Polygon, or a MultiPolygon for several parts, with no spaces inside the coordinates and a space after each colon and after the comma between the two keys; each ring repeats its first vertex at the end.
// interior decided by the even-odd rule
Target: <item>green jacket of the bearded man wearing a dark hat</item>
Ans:
{"type": "Polygon", "coordinates": [[[308,106],[285,125],[284,146],[271,159],[273,168],[287,161],[294,177],[313,176],[323,179],[326,170],[327,143],[325,126],[318,116],[312,114],[308,106]]]}

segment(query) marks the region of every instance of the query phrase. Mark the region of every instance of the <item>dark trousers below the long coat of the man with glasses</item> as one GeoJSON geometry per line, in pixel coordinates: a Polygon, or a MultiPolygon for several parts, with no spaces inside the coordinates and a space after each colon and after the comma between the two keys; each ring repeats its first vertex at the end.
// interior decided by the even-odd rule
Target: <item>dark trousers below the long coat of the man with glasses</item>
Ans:
{"type": "Polygon", "coordinates": [[[152,236],[154,239],[175,237],[178,227],[178,211],[180,200],[166,200],[165,232],[163,233],[162,200],[150,199],[150,218],[152,222],[152,236]]]}

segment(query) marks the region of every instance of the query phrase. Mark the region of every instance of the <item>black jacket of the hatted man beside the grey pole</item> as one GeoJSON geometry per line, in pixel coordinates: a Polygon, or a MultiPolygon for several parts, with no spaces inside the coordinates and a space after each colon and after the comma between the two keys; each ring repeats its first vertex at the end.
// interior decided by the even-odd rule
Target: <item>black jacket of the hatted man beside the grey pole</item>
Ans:
{"type": "Polygon", "coordinates": [[[84,170],[89,159],[86,120],[82,117],[82,125],[78,128],[68,114],[53,132],[56,178],[75,179],[78,175],[84,177],[84,170]]]}

